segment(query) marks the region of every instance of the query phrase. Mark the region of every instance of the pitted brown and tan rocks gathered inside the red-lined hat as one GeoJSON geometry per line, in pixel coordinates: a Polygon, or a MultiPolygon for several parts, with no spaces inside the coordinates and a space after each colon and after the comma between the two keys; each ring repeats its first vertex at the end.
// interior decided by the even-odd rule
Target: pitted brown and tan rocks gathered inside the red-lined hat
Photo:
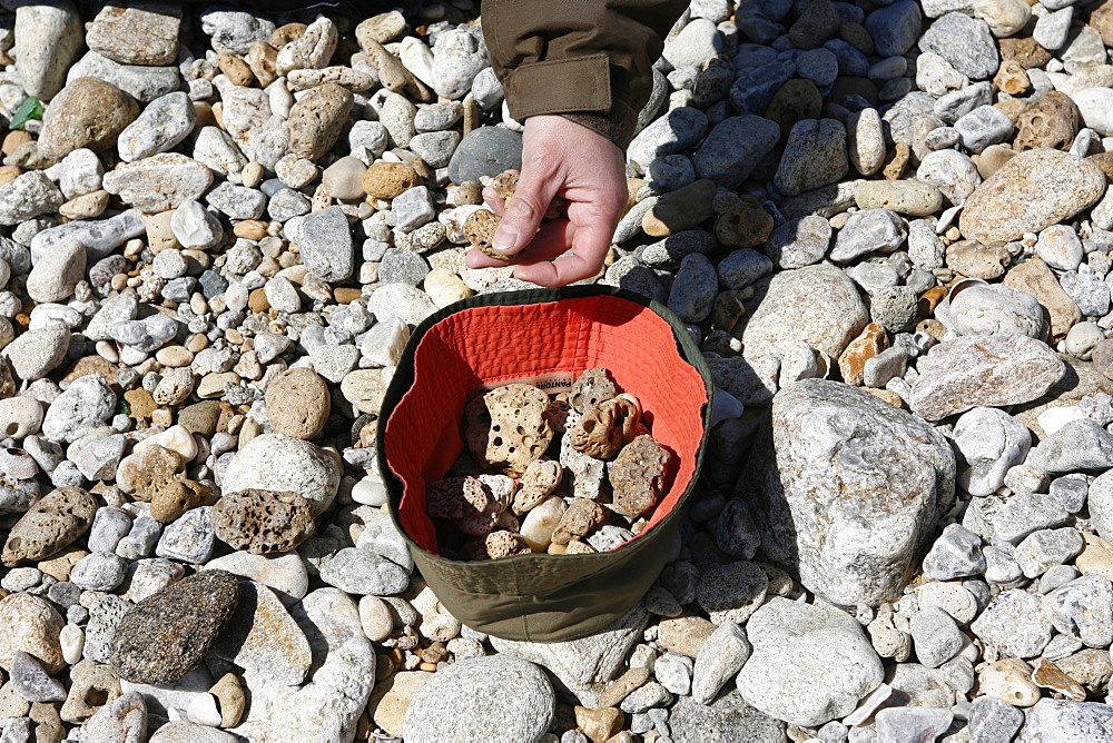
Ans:
{"type": "Polygon", "coordinates": [[[437,529],[443,555],[607,552],[648,526],[672,455],[605,368],[585,369],[553,398],[530,384],[496,387],[464,413],[467,453],[426,495],[426,513],[461,537],[437,529]]]}

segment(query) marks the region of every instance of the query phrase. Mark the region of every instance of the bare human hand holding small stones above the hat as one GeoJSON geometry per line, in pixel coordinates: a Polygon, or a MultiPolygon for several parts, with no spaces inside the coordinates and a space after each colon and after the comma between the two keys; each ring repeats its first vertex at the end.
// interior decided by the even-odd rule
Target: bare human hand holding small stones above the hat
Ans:
{"type": "Polygon", "coordinates": [[[486,188],[483,198],[502,217],[491,245],[509,261],[472,248],[470,268],[516,264],[514,278],[548,287],[592,277],[603,266],[627,204],[622,150],[564,117],[530,117],[514,196],[504,202],[486,188]],[[542,226],[553,196],[564,197],[568,217],[542,226]]]}

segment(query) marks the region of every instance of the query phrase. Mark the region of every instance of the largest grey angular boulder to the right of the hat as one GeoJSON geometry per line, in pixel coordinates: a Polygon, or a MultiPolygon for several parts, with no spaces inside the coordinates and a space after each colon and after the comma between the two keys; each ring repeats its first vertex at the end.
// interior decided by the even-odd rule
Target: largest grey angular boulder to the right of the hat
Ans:
{"type": "Polygon", "coordinates": [[[951,508],[955,456],[923,419],[837,382],[774,397],[738,484],[767,559],[846,606],[896,601],[951,508]]]}

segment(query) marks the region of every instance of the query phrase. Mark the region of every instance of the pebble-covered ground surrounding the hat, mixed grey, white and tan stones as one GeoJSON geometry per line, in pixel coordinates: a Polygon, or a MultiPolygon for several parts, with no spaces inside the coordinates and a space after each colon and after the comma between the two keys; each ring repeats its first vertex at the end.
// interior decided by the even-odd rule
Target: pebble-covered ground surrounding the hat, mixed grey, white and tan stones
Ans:
{"type": "Polygon", "coordinates": [[[410,329],[529,286],[463,260],[473,1],[2,7],[3,741],[1110,737],[1113,2],[693,0],[597,280],[715,427],[555,644],[437,602],[374,458],[410,329]]]}

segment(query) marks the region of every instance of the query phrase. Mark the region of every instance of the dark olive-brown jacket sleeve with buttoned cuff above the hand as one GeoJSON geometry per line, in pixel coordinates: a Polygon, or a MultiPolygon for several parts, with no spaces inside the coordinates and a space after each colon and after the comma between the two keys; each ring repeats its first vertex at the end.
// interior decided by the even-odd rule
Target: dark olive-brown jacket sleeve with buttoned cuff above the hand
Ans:
{"type": "Polygon", "coordinates": [[[483,0],[510,115],[561,113],[626,149],[688,0],[483,0]]]}

